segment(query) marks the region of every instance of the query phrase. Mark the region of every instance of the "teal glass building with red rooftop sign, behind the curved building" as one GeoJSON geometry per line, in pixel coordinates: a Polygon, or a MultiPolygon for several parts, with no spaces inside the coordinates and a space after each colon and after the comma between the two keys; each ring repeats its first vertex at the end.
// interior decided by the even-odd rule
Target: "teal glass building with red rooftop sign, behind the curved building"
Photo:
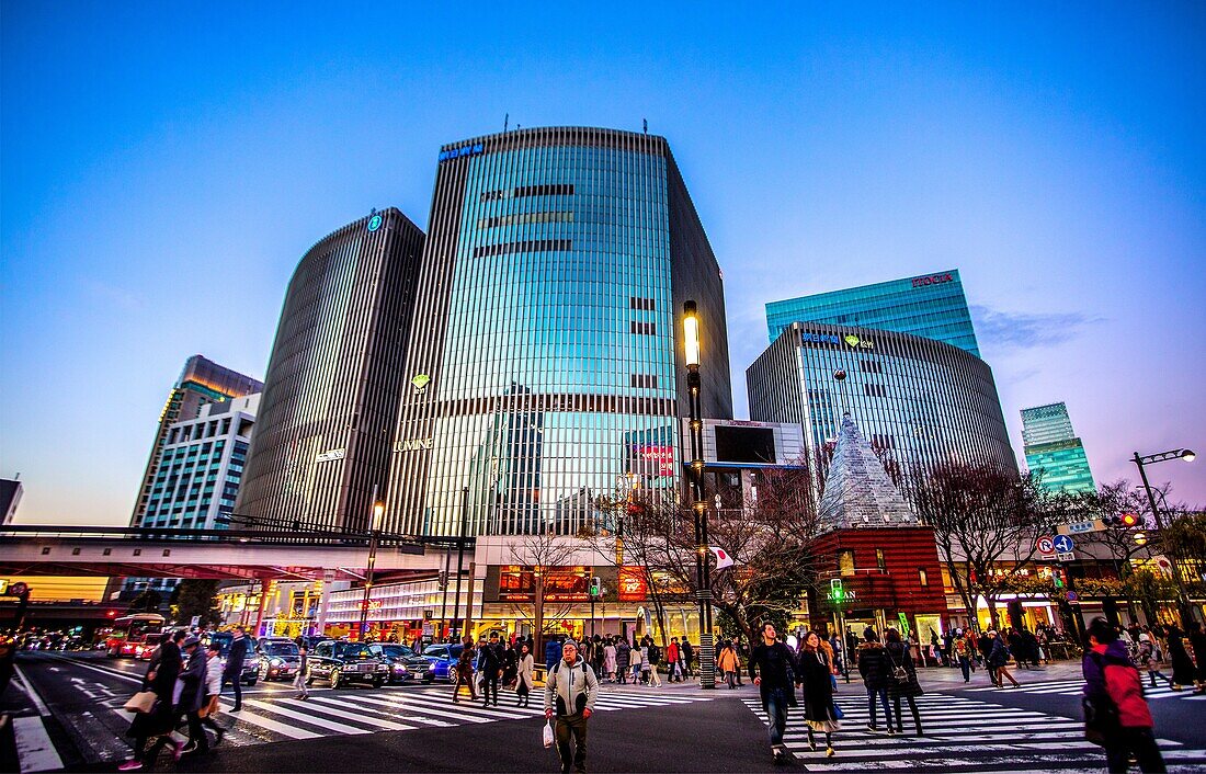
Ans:
{"type": "Polygon", "coordinates": [[[958,269],[856,288],[771,301],[771,341],[794,322],[827,323],[909,333],[943,341],[979,357],[967,298],[958,269]]]}

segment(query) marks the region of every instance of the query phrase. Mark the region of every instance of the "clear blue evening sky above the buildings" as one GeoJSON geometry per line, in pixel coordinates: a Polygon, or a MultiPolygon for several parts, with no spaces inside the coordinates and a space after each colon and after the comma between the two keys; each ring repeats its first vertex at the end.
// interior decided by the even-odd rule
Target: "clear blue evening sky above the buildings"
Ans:
{"type": "MultiPolygon", "coordinates": [[[[5,2],[0,475],[19,521],[125,522],[185,359],[262,377],[309,246],[425,224],[439,145],[509,113],[669,139],[739,414],[766,301],[958,268],[1019,457],[1066,400],[1134,479],[1206,451],[1204,40],[1194,2],[5,2]]],[[[1206,458],[1152,474],[1206,503],[1206,458]]]]}

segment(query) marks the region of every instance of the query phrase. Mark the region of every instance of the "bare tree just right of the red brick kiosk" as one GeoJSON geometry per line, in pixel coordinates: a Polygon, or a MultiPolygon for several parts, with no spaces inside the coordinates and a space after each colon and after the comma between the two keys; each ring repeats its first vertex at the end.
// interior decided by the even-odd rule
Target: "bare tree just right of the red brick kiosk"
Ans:
{"type": "Polygon", "coordinates": [[[933,527],[955,591],[973,618],[983,598],[996,628],[996,600],[1009,590],[1007,579],[1034,561],[1040,538],[1067,521],[1067,498],[1043,489],[1030,474],[990,463],[950,463],[915,479],[917,514],[933,527]]]}

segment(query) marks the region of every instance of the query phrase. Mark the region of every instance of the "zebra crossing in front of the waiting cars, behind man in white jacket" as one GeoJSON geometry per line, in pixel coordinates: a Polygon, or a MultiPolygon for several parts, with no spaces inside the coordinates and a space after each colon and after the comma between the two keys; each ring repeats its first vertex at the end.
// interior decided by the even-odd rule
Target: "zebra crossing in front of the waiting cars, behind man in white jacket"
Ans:
{"type": "MultiPolygon", "coordinates": [[[[595,711],[675,706],[712,700],[698,693],[627,692],[604,687],[595,700],[595,711]]],[[[233,700],[222,697],[223,711],[217,722],[226,728],[226,744],[251,745],[288,739],[358,735],[377,732],[405,732],[415,728],[468,726],[505,720],[543,719],[543,694],[537,691],[529,706],[515,706],[515,694],[500,692],[498,706],[482,706],[462,692],[452,703],[451,686],[406,686],[384,690],[316,690],[308,699],[292,694],[254,693],[245,696],[242,709],[232,713],[233,700]]],[[[113,709],[128,722],[129,714],[113,709]]]]}

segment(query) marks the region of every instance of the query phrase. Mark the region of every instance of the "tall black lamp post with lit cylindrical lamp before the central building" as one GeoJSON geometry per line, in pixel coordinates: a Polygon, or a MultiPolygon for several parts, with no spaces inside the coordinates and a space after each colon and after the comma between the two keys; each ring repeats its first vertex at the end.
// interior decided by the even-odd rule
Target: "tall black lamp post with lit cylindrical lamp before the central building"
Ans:
{"type": "Polygon", "coordinates": [[[691,511],[695,515],[695,580],[699,603],[699,680],[716,687],[716,649],[712,641],[712,577],[708,567],[708,503],[703,496],[703,420],[699,418],[699,318],[695,301],[683,304],[686,386],[691,394],[691,511]]]}

